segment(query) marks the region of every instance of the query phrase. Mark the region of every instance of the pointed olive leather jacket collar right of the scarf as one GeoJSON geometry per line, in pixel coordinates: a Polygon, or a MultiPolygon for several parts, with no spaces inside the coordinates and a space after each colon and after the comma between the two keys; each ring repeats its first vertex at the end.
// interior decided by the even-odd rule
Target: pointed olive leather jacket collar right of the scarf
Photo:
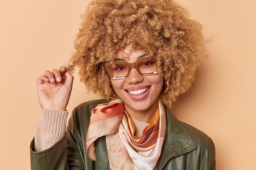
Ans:
{"type": "Polygon", "coordinates": [[[162,154],[158,159],[157,169],[162,169],[169,159],[189,153],[196,148],[182,123],[165,105],[164,110],[167,122],[166,139],[162,147],[162,154]]]}

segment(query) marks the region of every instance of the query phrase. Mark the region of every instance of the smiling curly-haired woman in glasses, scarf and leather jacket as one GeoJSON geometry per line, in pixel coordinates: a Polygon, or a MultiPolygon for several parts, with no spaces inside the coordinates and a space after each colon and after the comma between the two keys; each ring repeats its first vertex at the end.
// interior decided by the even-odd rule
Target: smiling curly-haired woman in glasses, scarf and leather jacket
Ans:
{"type": "Polygon", "coordinates": [[[70,64],[38,77],[31,169],[214,170],[212,140],[168,109],[190,88],[204,43],[171,0],[91,1],[70,64]],[[76,107],[65,131],[76,65],[103,99],[76,107]]]}

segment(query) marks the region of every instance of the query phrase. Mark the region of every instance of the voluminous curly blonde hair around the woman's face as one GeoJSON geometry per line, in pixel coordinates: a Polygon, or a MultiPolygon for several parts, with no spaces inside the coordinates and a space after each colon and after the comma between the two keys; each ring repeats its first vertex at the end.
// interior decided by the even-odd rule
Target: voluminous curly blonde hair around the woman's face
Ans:
{"type": "Polygon", "coordinates": [[[158,74],[170,84],[160,94],[169,107],[189,90],[207,57],[202,26],[173,0],[92,0],[82,19],[67,69],[73,72],[77,65],[88,92],[104,99],[115,96],[104,63],[114,61],[117,50],[131,42],[155,55],[158,74]]]}

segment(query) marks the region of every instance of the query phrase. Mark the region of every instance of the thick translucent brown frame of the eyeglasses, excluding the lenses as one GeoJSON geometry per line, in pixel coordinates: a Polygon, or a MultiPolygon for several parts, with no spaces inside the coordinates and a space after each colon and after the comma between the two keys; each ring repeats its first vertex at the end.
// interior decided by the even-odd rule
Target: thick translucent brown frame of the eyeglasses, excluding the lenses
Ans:
{"type": "MultiPolygon", "coordinates": [[[[108,72],[108,75],[113,79],[113,80],[119,80],[119,79],[124,79],[124,78],[127,78],[129,75],[130,75],[130,71],[132,70],[132,68],[135,68],[137,70],[137,72],[141,75],[141,76],[149,76],[149,75],[153,75],[153,74],[157,74],[157,67],[155,68],[155,71],[154,72],[150,72],[150,73],[141,73],[139,71],[139,68],[138,68],[138,63],[140,61],[143,61],[143,60],[146,60],[146,59],[154,59],[155,60],[155,57],[154,56],[148,56],[148,57],[143,57],[141,59],[138,59],[136,62],[134,63],[128,63],[126,61],[115,61],[116,64],[119,64],[119,63],[125,63],[126,65],[128,65],[128,72],[126,74],[126,76],[122,76],[122,77],[114,77],[112,75],[112,72],[110,71],[110,67],[112,64],[110,64],[110,62],[108,63],[105,63],[105,68],[108,72]]],[[[113,65],[115,65],[115,63],[113,63],[113,65]]]]}

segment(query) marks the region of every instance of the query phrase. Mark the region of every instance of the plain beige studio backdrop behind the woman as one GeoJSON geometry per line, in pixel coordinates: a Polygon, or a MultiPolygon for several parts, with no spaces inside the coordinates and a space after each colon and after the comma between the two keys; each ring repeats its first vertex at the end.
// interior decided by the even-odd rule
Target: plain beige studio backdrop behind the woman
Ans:
{"type": "MultiPolygon", "coordinates": [[[[174,103],[182,121],[216,145],[217,170],[255,170],[256,1],[178,0],[204,26],[209,59],[191,91],[174,103]]],[[[40,118],[36,78],[65,64],[88,0],[0,1],[0,169],[29,170],[40,118]]],[[[68,110],[99,98],[75,73],[68,110]]]]}

